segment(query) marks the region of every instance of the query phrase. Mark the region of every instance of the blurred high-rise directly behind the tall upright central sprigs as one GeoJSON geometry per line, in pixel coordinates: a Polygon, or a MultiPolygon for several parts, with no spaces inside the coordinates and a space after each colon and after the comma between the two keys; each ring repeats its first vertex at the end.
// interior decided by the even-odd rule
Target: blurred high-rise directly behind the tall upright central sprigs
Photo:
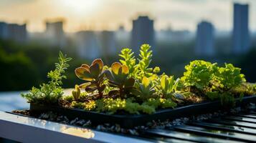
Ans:
{"type": "Polygon", "coordinates": [[[153,20],[148,16],[138,16],[138,19],[133,20],[133,30],[131,34],[132,49],[138,52],[142,44],[155,46],[155,34],[153,29],[153,20]]]}

